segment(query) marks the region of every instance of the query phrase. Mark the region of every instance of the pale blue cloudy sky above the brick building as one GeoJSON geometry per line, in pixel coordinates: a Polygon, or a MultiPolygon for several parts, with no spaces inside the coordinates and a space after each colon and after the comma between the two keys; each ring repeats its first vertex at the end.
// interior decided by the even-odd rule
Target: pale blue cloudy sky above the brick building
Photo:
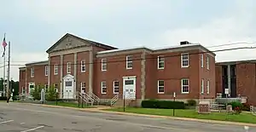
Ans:
{"type": "MultiPolygon", "coordinates": [[[[20,66],[47,60],[45,51],[67,32],[119,49],[184,40],[212,51],[256,46],[254,0],[9,0],[1,5],[0,40],[6,32],[14,80],[20,66]],[[241,44],[214,47],[230,43],[241,44]]],[[[256,59],[255,50],[216,52],[216,61],[256,59]]],[[[3,77],[3,58],[0,67],[3,77]]]]}

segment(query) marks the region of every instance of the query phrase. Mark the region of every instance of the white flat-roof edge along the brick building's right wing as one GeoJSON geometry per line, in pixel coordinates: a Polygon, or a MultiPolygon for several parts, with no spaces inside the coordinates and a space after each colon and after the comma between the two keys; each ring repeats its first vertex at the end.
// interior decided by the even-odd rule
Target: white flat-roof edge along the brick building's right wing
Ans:
{"type": "Polygon", "coordinates": [[[113,53],[113,52],[121,52],[121,51],[127,51],[127,50],[134,50],[134,49],[147,49],[152,52],[155,52],[155,51],[166,50],[166,49],[180,49],[180,48],[186,48],[186,47],[201,47],[201,49],[205,49],[207,52],[211,53],[212,55],[215,55],[214,53],[212,53],[212,51],[205,48],[200,43],[190,43],[190,44],[176,45],[176,46],[158,48],[158,49],[149,49],[147,47],[136,47],[136,48],[131,48],[131,49],[112,49],[112,50],[105,50],[105,51],[97,52],[97,55],[108,54],[108,53],[113,53]]]}

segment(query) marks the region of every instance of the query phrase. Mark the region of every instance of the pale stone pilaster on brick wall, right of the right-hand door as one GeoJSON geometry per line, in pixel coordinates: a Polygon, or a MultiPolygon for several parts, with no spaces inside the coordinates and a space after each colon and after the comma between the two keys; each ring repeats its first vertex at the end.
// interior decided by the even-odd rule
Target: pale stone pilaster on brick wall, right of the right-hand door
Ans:
{"type": "Polygon", "coordinates": [[[145,51],[143,51],[143,55],[142,55],[142,74],[141,74],[141,92],[142,92],[142,100],[145,100],[145,80],[146,80],[146,60],[145,60],[145,51]]]}

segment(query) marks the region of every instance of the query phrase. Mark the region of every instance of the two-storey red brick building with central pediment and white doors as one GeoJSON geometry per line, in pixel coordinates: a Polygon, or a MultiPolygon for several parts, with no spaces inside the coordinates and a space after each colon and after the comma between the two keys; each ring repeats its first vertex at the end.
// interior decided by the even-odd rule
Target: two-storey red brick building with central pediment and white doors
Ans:
{"type": "Polygon", "coordinates": [[[144,99],[212,99],[216,95],[215,55],[200,44],[166,49],[117,49],[67,33],[47,51],[49,60],[20,67],[20,93],[54,85],[60,98],[79,92],[100,99],[131,95],[144,99]],[[205,52],[203,54],[200,54],[205,52]]]}

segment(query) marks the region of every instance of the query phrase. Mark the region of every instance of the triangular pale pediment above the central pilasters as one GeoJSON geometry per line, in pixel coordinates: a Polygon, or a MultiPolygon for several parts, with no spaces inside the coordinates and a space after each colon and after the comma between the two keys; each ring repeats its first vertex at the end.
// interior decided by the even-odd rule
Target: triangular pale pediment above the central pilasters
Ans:
{"type": "Polygon", "coordinates": [[[65,36],[61,37],[61,39],[58,42],[51,46],[46,52],[52,53],[55,51],[74,49],[90,45],[91,44],[84,41],[84,39],[67,33],[65,36]]]}

